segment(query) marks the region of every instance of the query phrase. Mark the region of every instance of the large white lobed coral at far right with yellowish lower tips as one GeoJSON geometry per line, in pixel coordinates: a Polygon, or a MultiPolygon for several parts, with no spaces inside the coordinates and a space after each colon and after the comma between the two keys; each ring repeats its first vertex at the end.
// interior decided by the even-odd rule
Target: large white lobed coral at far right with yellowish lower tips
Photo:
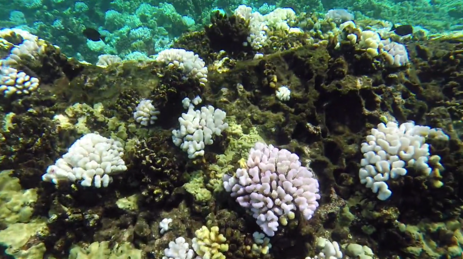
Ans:
{"type": "Polygon", "coordinates": [[[428,137],[448,140],[441,129],[431,129],[413,122],[400,126],[395,122],[378,124],[378,128],[371,129],[371,135],[366,136],[366,142],[362,143],[364,158],[360,162],[360,182],[377,193],[378,199],[386,200],[392,194],[386,181],[406,175],[407,165],[430,175],[429,145],[425,143],[428,137]]]}

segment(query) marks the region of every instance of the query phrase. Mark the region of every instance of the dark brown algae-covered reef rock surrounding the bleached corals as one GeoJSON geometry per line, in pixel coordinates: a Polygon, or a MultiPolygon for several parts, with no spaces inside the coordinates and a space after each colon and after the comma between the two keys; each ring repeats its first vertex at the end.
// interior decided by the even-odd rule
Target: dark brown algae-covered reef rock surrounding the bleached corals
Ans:
{"type": "Polygon", "coordinates": [[[227,34],[237,33],[241,42],[247,22],[213,19],[215,27],[188,33],[175,46],[209,67],[202,84],[154,60],[103,68],[46,45],[29,66],[41,79],[37,91],[0,100],[0,169],[12,170],[0,174],[0,243],[7,254],[162,258],[169,242],[183,237],[198,254],[227,259],[304,259],[318,255],[320,241],[337,245],[347,258],[461,255],[462,42],[407,43],[410,64],[391,67],[348,42],[308,44],[303,35],[290,35],[252,59],[253,50],[227,34]],[[222,42],[228,56],[219,51],[222,42]],[[289,101],[276,97],[281,86],[290,89],[289,101]],[[182,100],[197,96],[225,111],[229,127],[204,147],[203,157],[188,159],[171,131],[182,100]],[[159,111],[149,127],[132,116],[142,99],[159,111]],[[427,142],[444,172],[428,177],[410,169],[389,182],[393,195],[381,201],[358,177],[360,146],[370,129],[387,121],[439,128],[450,139],[427,142]],[[72,143],[95,131],[122,143],[125,172],[112,175],[106,188],[41,180],[72,143]],[[296,213],[266,241],[222,186],[224,175],[246,168],[249,148],[260,140],[297,154],[321,195],[310,220],[296,213]],[[161,234],[165,218],[171,222],[161,234]],[[24,231],[8,241],[15,229],[24,231]]]}

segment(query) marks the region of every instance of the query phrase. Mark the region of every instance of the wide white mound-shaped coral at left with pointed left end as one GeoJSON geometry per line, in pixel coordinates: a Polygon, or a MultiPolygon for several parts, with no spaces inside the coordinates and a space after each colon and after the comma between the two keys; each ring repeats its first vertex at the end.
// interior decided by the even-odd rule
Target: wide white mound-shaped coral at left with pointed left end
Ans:
{"type": "Polygon", "coordinates": [[[62,158],[50,165],[42,176],[44,181],[57,184],[60,181],[80,180],[82,186],[107,187],[110,175],[127,170],[122,144],[95,133],[78,139],[62,158]]]}

